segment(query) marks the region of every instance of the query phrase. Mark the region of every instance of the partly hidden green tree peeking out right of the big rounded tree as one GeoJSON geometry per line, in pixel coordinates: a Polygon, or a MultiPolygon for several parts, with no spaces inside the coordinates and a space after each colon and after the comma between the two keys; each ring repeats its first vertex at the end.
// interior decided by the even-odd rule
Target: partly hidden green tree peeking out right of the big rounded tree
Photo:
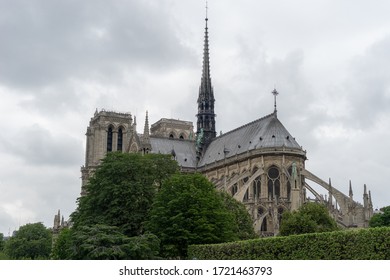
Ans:
{"type": "Polygon", "coordinates": [[[256,238],[257,235],[253,228],[253,221],[245,205],[234,199],[227,192],[221,191],[219,192],[219,195],[222,197],[228,211],[234,215],[234,232],[236,233],[238,239],[245,240],[256,238]]]}

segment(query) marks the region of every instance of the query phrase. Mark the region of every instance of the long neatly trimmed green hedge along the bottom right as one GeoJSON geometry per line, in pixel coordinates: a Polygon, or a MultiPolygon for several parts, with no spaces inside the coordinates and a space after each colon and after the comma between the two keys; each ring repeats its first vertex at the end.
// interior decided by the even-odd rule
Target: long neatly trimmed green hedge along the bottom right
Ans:
{"type": "Polygon", "coordinates": [[[390,227],[191,245],[188,257],[201,260],[388,260],[390,227]]]}

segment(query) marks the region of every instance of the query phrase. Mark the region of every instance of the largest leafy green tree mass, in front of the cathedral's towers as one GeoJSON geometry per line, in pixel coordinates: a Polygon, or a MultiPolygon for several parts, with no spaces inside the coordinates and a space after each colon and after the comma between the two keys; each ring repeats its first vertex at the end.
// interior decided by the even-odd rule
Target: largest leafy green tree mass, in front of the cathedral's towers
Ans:
{"type": "Polygon", "coordinates": [[[143,224],[162,182],[178,172],[167,155],[108,153],[56,237],[53,259],[156,259],[160,240],[143,224]]]}

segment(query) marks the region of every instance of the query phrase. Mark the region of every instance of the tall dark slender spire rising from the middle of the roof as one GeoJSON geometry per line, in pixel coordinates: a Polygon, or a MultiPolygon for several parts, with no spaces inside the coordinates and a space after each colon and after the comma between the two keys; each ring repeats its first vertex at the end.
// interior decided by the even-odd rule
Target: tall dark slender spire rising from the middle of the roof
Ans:
{"type": "Polygon", "coordinates": [[[197,136],[202,135],[202,139],[199,139],[199,143],[202,143],[203,149],[206,147],[217,133],[215,130],[215,114],[214,114],[214,92],[211,85],[210,76],[210,53],[209,53],[209,33],[208,33],[208,16],[206,6],[206,18],[205,18],[205,35],[203,45],[203,66],[202,77],[199,86],[198,96],[198,114],[197,116],[197,136]]]}

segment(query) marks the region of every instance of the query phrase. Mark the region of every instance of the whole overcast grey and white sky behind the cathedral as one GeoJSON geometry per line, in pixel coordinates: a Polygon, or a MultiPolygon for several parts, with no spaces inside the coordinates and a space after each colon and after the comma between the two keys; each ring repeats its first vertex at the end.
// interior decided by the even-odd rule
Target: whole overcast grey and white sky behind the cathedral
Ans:
{"type": "MultiPolygon", "coordinates": [[[[209,0],[217,130],[273,111],[306,167],[390,205],[390,2],[209,0]]],[[[76,207],[96,108],[195,121],[202,0],[0,0],[0,232],[76,207]]]]}

